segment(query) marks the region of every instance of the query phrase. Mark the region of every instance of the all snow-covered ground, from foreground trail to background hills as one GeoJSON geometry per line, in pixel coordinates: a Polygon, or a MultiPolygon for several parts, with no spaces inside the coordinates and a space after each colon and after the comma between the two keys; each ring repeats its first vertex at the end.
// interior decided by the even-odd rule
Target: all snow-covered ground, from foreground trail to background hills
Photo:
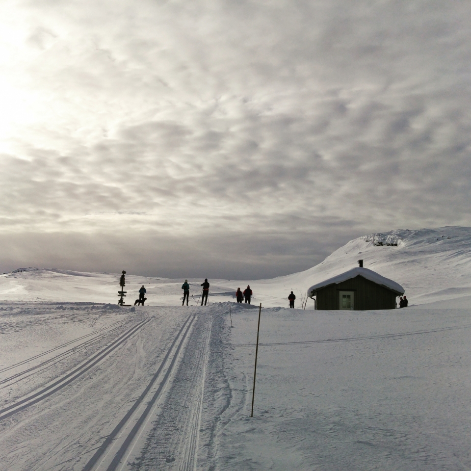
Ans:
{"type": "Polygon", "coordinates": [[[206,307],[203,279],[182,307],[183,280],[127,276],[133,308],[115,274],[1,275],[0,470],[471,469],[470,254],[470,228],[360,237],[302,273],[209,280],[206,307]],[[281,307],[360,258],[415,306],[281,307]]]}

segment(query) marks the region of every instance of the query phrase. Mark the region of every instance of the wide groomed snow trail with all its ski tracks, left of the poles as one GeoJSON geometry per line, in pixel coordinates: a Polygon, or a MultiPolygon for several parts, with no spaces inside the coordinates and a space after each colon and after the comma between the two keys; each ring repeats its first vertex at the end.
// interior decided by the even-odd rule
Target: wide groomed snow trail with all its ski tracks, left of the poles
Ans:
{"type": "MultiPolygon", "coordinates": [[[[72,333],[80,308],[68,305],[65,317],[44,305],[16,309],[20,315],[10,321],[21,339],[37,334],[32,319],[50,331],[69,318],[72,333]]],[[[0,409],[0,470],[195,469],[205,405],[213,402],[205,400],[205,383],[211,347],[220,348],[221,312],[219,306],[103,307],[80,320],[92,332],[56,337],[55,345],[3,367],[8,376],[0,381],[7,391],[13,382],[17,397],[0,409]],[[101,337],[104,324],[120,335],[111,342],[101,337]],[[43,386],[29,392],[31,380],[43,386]]],[[[205,417],[213,427],[212,411],[205,417]]],[[[205,453],[214,447],[209,440],[205,453]]]]}

